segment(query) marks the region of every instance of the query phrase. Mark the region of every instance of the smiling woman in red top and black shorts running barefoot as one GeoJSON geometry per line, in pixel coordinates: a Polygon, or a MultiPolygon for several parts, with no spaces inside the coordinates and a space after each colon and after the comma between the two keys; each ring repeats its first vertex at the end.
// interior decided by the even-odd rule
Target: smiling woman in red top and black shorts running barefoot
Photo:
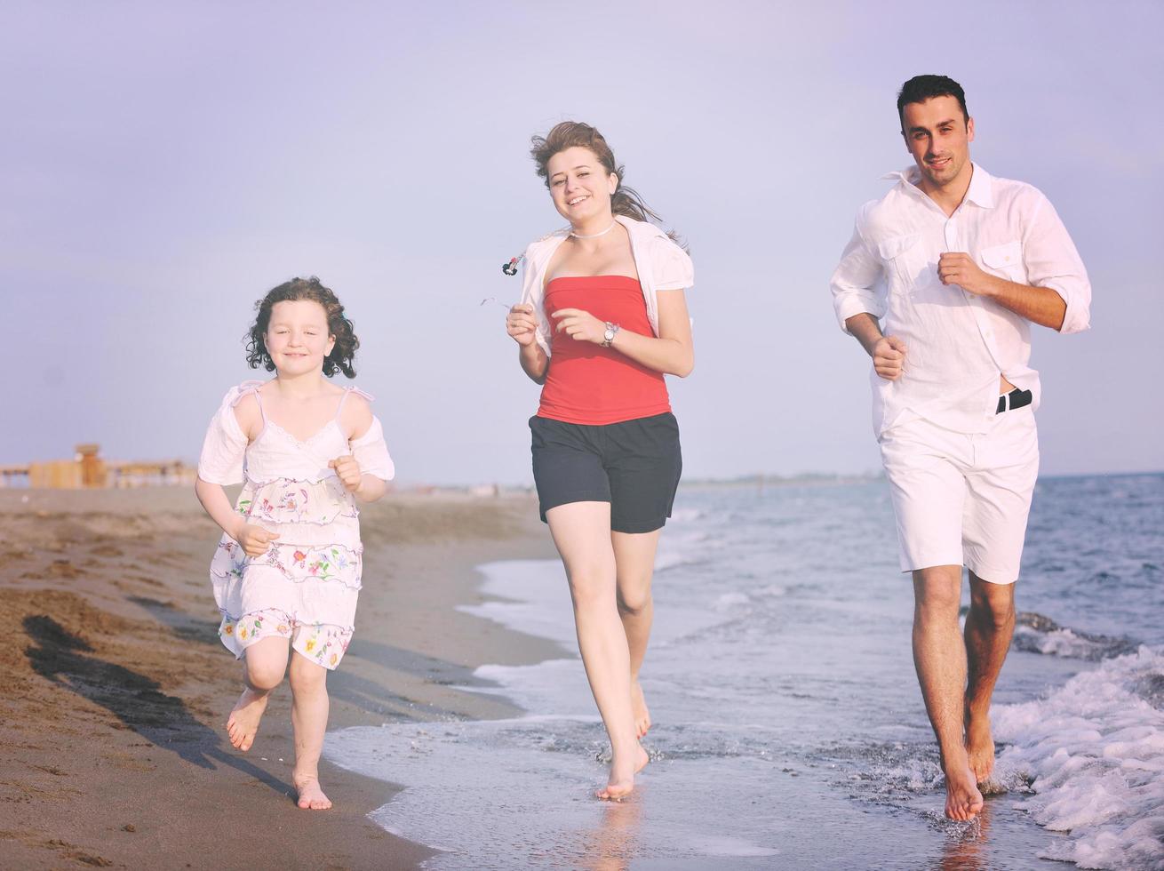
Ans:
{"type": "Polygon", "coordinates": [[[639,668],[651,575],[682,468],[663,374],[694,364],[683,290],[691,261],[648,221],[594,127],[533,137],[538,175],[569,227],[525,252],[506,317],[521,368],[542,384],[530,419],[541,519],[566,566],[579,650],[612,751],[597,794],[622,799],[647,764],[639,668]]]}

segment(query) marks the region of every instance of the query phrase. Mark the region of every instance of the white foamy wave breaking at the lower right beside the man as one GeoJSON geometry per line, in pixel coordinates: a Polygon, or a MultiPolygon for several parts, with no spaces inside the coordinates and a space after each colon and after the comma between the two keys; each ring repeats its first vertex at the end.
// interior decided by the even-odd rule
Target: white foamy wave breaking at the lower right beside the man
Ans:
{"type": "Polygon", "coordinates": [[[998,706],[1003,778],[1029,778],[1035,820],[1069,831],[1043,858],[1164,869],[1164,649],[1140,647],[1048,697],[998,706]]]}

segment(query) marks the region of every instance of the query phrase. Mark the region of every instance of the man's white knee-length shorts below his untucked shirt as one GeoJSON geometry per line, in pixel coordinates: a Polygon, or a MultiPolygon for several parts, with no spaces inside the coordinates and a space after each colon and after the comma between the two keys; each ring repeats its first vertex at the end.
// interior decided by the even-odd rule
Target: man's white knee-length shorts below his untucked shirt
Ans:
{"type": "Polygon", "coordinates": [[[996,415],[985,433],[910,420],[879,442],[901,571],[964,565],[984,581],[1014,583],[1038,476],[1031,408],[996,415]]]}

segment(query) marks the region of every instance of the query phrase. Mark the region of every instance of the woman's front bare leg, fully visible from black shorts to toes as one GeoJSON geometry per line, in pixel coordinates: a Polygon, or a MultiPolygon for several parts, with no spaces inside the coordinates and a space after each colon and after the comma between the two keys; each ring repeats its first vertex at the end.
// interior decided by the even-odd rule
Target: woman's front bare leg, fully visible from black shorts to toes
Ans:
{"type": "Polygon", "coordinates": [[[616,601],[610,504],[572,502],[549,509],[546,519],[569,579],[582,664],[610,736],[610,781],[598,798],[619,799],[634,788],[634,774],[647,755],[631,714],[630,653],[616,601]]]}

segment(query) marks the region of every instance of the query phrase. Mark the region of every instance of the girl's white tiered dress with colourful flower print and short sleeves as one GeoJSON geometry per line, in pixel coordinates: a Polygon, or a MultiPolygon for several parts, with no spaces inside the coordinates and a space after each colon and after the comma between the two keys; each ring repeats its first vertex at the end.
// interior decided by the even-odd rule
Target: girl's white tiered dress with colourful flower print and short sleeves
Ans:
{"type": "Polygon", "coordinates": [[[263,412],[263,430],[247,444],[234,406],[258,388],[247,381],[232,388],[211,420],[198,462],[198,476],[208,483],[243,483],[235,505],[247,523],[277,532],[261,557],[222,536],[211,561],[211,583],[222,614],[219,637],[241,658],[261,638],[281,636],[326,668],[339,665],[355,629],[356,599],[363,546],[360,512],[327,463],[352,454],[365,474],[385,481],[395,468],[377,418],[368,432],[348,441],[340,427],[340,409],[306,441],[299,441],[263,412]]]}

